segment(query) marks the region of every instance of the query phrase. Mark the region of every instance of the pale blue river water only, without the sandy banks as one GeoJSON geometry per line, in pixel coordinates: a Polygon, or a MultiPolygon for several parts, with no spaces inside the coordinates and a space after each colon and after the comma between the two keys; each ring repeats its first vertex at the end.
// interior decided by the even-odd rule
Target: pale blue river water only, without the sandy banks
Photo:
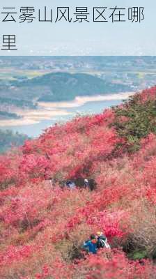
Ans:
{"type": "Polygon", "coordinates": [[[40,121],[40,123],[33,123],[31,125],[8,126],[7,129],[13,130],[14,132],[24,133],[26,135],[29,135],[30,137],[38,137],[38,135],[40,135],[43,130],[50,126],[53,126],[55,123],[63,123],[65,121],[68,121],[75,117],[77,114],[98,114],[104,109],[114,105],[119,105],[120,103],[122,103],[122,100],[88,102],[84,105],[81,105],[81,107],[65,108],[67,112],[72,113],[70,115],[54,116],[52,119],[40,121]]]}

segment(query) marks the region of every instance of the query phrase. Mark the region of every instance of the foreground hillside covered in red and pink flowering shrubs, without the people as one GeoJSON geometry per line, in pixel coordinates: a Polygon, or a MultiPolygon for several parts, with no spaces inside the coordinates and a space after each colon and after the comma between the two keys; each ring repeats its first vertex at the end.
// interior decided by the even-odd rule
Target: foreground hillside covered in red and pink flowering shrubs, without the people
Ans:
{"type": "Polygon", "coordinates": [[[0,278],[155,279],[156,87],[0,156],[0,189],[0,278]],[[83,255],[99,230],[111,250],[83,255]]]}

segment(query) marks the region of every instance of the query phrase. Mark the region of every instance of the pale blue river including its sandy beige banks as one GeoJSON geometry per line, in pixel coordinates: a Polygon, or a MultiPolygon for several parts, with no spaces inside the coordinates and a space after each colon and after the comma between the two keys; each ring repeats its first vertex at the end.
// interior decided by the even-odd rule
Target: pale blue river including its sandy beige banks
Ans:
{"type": "MultiPolygon", "coordinates": [[[[129,94],[130,96],[130,93],[127,94],[129,94]]],[[[50,107],[50,105],[48,105],[47,103],[46,112],[51,112],[52,114],[53,110],[56,110],[54,115],[48,117],[48,119],[42,119],[42,117],[40,117],[38,121],[32,121],[32,123],[24,123],[24,121],[22,123],[22,121],[20,121],[21,123],[18,125],[16,125],[16,122],[13,121],[11,125],[7,123],[7,126],[1,126],[0,122],[0,128],[7,128],[9,130],[13,130],[14,132],[24,133],[26,135],[29,135],[30,137],[38,137],[43,130],[50,126],[53,126],[55,123],[64,123],[65,121],[73,119],[77,115],[99,114],[106,108],[119,105],[123,102],[123,100],[121,98],[122,96],[120,96],[120,98],[118,96],[116,98],[114,96],[113,99],[108,98],[109,100],[98,100],[98,98],[97,100],[90,100],[88,98],[88,100],[85,100],[83,102],[80,98],[80,102],[54,103],[52,107],[50,107]]],[[[42,112],[42,110],[40,111],[42,112]]],[[[26,116],[24,116],[24,119],[26,120],[26,116]]]]}

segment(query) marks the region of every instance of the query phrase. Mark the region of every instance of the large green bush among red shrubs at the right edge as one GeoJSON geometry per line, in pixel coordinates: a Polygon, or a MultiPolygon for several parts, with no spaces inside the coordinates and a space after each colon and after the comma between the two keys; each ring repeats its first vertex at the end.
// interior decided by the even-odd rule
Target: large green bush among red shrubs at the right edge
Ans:
{"type": "Polygon", "coordinates": [[[130,152],[137,151],[140,140],[149,133],[156,133],[156,100],[139,101],[133,96],[123,107],[114,107],[116,120],[113,126],[118,135],[125,139],[130,152]],[[122,120],[122,117],[125,117],[122,120]]]}

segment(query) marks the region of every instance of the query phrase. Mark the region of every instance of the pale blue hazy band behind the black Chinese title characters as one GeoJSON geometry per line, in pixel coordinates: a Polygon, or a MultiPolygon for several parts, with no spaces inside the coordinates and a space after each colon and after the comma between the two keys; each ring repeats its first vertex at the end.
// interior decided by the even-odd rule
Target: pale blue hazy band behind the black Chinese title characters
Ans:
{"type": "Polygon", "coordinates": [[[0,55],[156,55],[155,0],[1,0],[1,12],[3,7],[15,7],[18,15],[17,22],[0,22],[0,45],[3,34],[15,34],[18,50],[0,50],[0,55]],[[36,20],[20,24],[21,6],[34,6],[36,20]],[[38,22],[38,9],[45,6],[53,9],[54,19],[59,6],[69,6],[72,17],[75,7],[88,7],[91,22],[38,22]],[[94,6],[143,6],[145,19],[141,23],[93,22],[94,6]]]}

